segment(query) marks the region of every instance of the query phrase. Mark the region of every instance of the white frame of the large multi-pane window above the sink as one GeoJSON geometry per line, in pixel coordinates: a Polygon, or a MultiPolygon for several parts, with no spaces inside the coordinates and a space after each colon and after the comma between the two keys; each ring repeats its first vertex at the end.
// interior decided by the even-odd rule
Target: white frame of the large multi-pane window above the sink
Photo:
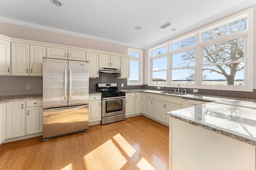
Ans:
{"type": "Polygon", "coordinates": [[[195,49],[195,72],[194,72],[194,85],[182,85],[182,88],[199,88],[199,89],[214,89],[214,90],[228,90],[228,91],[253,91],[253,79],[252,77],[249,77],[250,73],[253,72],[253,8],[250,8],[248,10],[244,10],[242,12],[238,12],[237,14],[234,14],[232,16],[228,16],[225,18],[222,18],[216,22],[212,22],[212,24],[208,24],[207,26],[204,26],[202,28],[198,28],[192,32],[188,32],[187,34],[184,34],[183,36],[178,36],[177,38],[165,43],[168,45],[168,55],[169,55],[169,61],[168,62],[168,77],[166,80],[166,84],[152,84],[152,56],[151,51],[154,49],[158,49],[162,45],[158,45],[157,47],[152,47],[148,49],[149,54],[149,62],[150,62],[150,68],[148,68],[148,86],[161,86],[161,87],[176,87],[177,85],[171,84],[171,61],[172,56],[175,53],[181,53],[184,51],[188,51],[189,49],[195,49]],[[222,26],[224,24],[228,24],[230,22],[247,18],[247,30],[236,32],[234,34],[230,34],[227,36],[223,36],[221,38],[215,38],[213,40],[209,40],[206,42],[201,42],[202,38],[201,35],[203,32],[206,32],[208,30],[212,30],[214,28],[217,28],[219,26],[222,26]],[[192,37],[193,35],[196,35],[196,41],[197,43],[195,45],[191,45],[188,47],[184,47],[182,49],[176,49],[174,51],[171,51],[171,45],[172,43],[179,42],[181,40],[187,39],[189,37],[192,37]],[[244,85],[243,86],[236,86],[236,85],[202,85],[202,67],[203,65],[203,47],[208,46],[209,44],[214,43],[220,43],[220,42],[226,42],[228,40],[234,40],[236,38],[244,38],[244,85]]]}

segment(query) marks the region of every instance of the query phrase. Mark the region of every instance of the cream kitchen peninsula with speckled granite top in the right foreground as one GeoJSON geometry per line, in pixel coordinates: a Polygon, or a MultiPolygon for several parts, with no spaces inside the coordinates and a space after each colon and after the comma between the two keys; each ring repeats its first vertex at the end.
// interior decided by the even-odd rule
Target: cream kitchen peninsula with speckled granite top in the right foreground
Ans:
{"type": "Polygon", "coordinates": [[[166,114],[170,170],[255,170],[255,102],[222,99],[166,114]]]}

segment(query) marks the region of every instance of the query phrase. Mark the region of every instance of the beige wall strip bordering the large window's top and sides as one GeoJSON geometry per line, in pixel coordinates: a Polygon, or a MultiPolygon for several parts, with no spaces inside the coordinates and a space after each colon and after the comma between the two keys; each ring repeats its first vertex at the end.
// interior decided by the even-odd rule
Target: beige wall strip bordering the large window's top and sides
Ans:
{"type": "MultiPolygon", "coordinates": [[[[253,23],[253,25],[254,25],[254,30],[253,30],[253,32],[254,32],[254,34],[253,34],[253,44],[254,44],[253,56],[254,56],[254,61],[253,62],[255,63],[256,62],[256,48],[255,48],[256,47],[256,5],[252,6],[252,7],[253,7],[253,10],[254,10],[254,23],[253,23]]],[[[249,8],[252,8],[252,7],[249,7],[249,8]]],[[[246,9],[249,9],[249,8],[246,8],[246,9]]],[[[244,10],[246,10],[246,9],[244,9],[244,10]]],[[[241,11],[243,11],[243,10],[240,10],[238,12],[241,12],[241,11]]],[[[236,13],[238,13],[238,12],[236,12],[236,13]]],[[[232,15],[234,15],[234,14],[232,14],[232,15]]],[[[229,16],[232,16],[232,15],[229,15],[229,16]]],[[[228,17],[228,16],[226,16],[226,17],[228,17]]],[[[214,22],[216,22],[216,21],[214,21],[214,22]]],[[[210,24],[212,24],[212,23],[209,23],[207,25],[210,25],[210,24]]],[[[207,25],[205,25],[205,26],[207,26],[207,25]]],[[[202,26],[202,27],[205,27],[205,26],[202,26]]],[[[202,28],[202,27],[200,27],[200,28],[202,28]]],[[[194,30],[191,30],[191,32],[193,32],[193,31],[195,31],[197,29],[200,29],[200,28],[196,28],[194,30]]],[[[188,34],[188,33],[189,32],[187,32],[185,34],[188,34]]],[[[180,35],[180,36],[182,36],[182,35],[180,35]]],[[[178,37],[180,37],[180,36],[178,36],[178,37]]],[[[173,39],[175,39],[175,38],[176,37],[174,37],[173,39]]],[[[166,43],[170,42],[171,40],[172,39],[167,40],[166,43]]],[[[164,44],[164,42],[162,42],[162,43],[160,43],[158,45],[161,45],[161,44],[164,44]]],[[[157,46],[157,45],[154,45],[154,47],[155,46],[157,46]]],[[[148,50],[150,48],[152,48],[152,47],[144,49],[144,60],[143,60],[143,65],[145,66],[144,69],[143,69],[144,70],[144,73],[143,73],[144,74],[144,82],[143,82],[144,85],[148,84],[148,67],[150,67],[150,60],[149,60],[148,50]]],[[[254,67],[254,70],[253,70],[253,73],[252,73],[252,78],[254,78],[254,80],[253,80],[253,89],[256,89],[256,67],[254,67]]]]}

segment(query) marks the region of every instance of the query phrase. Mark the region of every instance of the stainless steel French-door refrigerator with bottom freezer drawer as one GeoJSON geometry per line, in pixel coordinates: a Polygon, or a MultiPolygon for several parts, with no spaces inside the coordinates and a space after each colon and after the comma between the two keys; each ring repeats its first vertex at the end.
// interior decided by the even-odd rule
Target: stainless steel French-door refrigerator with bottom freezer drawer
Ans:
{"type": "Polygon", "coordinates": [[[43,141],[88,131],[88,62],[43,59],[43,141]]]}

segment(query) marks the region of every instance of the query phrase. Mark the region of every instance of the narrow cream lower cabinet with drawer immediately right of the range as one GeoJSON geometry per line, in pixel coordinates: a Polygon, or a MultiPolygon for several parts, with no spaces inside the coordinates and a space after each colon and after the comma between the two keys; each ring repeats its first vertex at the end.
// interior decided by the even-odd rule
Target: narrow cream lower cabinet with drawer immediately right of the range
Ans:
{"type": "Polygon", "coordinates": [[[125,116],[135,115],[135,93],[125,94],[125,116]]]}

